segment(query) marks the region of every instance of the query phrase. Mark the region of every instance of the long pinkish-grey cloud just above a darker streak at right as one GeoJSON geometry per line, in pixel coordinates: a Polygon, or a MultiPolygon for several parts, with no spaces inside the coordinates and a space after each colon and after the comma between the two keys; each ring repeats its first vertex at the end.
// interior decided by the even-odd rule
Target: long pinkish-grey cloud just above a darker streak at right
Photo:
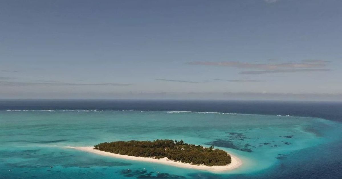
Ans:
{"type": "Polygon", "coordinates": [[[293,69],[293,68],[323,68],[325,63],[244,63],[237,61],[224,62],[188,62],[189,65],[206,65],[206,66],[230,66],[240,69],[259,69],[259,70],[277,70],[277,69],[293,69]]]}

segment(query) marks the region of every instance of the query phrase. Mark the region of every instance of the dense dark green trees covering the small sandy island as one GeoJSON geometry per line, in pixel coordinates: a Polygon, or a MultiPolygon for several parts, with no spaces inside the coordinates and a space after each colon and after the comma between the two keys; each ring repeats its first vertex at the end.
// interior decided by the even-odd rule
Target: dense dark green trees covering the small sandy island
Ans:
{"type": "Polygon", "coordinates": [[[231,156],[224,150],[205,148],[184,143],[183,140],[157,139],[154,141],[114,141],[100,143],[94,149],[129,156],[142,156],[161,159],[167,157],[172,161],[195,165],[227,165],[232,162],[231,156]]]}

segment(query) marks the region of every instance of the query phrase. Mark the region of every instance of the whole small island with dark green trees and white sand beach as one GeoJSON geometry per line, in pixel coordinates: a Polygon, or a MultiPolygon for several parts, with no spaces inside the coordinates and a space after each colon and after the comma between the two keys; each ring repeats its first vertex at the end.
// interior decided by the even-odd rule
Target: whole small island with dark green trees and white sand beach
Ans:
{"type": "Polygon", "coordinates": [[[187,144],[183,140],[113,141],[94,147],[69,147],[129,160],[149,161],[177,167],[225,171],[237,168],[241,160],[214,146],[187,144]]]}

